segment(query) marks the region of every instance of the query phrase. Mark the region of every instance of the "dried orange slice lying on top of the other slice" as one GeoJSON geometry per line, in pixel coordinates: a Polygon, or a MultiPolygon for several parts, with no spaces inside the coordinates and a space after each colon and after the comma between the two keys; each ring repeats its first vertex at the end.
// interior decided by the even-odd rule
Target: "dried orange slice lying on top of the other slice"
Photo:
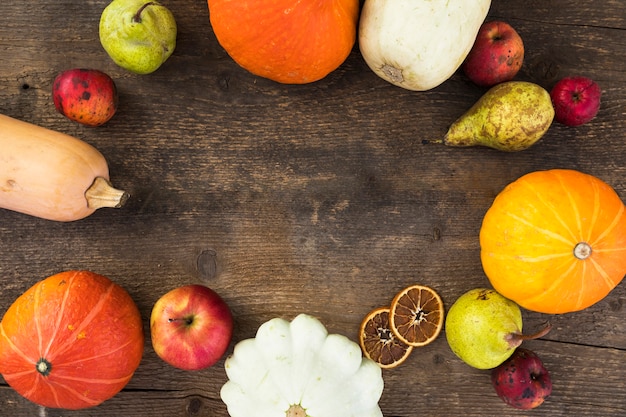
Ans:
{"type": "Polygon", "coordinates": [[[400,291],[389,307],[389,327],[409,346],[424,346],[443,328],[443,302],[431,288],[411,285],[400,291]]]}

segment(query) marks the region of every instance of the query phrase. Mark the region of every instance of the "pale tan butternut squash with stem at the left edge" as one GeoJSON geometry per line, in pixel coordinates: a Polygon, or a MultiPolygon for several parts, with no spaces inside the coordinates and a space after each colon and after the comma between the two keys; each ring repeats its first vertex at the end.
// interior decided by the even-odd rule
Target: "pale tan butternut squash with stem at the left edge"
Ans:
{"type": "Polygon", "coordinates": [[[73,221],[129,195],[113,188],[104,156],[93,146],[0,115],[0,208],[55,221],[73,221]]]}

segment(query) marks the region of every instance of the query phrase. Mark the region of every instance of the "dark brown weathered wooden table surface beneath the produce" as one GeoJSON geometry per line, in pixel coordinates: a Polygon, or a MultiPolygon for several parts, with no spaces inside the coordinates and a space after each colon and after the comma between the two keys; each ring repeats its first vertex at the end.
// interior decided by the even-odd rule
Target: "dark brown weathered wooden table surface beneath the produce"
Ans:
{"type": "MultiPolygon", "coordinates": [[[[484,90],[460,72],[428,92],[392,86],[355,46],[325,79],[281,85],[238,67],[217,43],[203,0],[164,0],[178,25],[174,55],[151,75],[117,67],[98,40],[106,0],[0,2],[0,113],[80,137],[107,158],[131,193],[119,210],[72,223],[0,210],[0,310],[35,282],[66,269],[106,275],[144,318],[142,363],[102,405],[40,408],[2,380],[6,416],[227,416],[223,360],[185,372],[152,350],[154,302],[201,283],[231,306],[229,348],[272,317],[304,312],[357,340],[362,317],[406,285],[436,289],[446,306],[489,285],[479,259],[482,216],[495,195],[530,171],[573,168],[626,198],[626,3],[494,0],[488,19],[521,34],[518,79],[546,88],[567,75],[602,87],[595,120],[554,124],[531,149],[424,145],[484,90]],[[52,80],[73,67],[111,75],[115,117],[73,123],[52,102],[52,80]]],[[[554,328],[525,346],[550,370],[554,390],[522,412],[494,393],[488,371],[462,363],[443,333],[384,371],[385,417],[626,415],[626,285],[562,316],[524,311],[525,327],[554,328]]],[[[263,417],[263,416],[251,416],[263,417]]],[[[341,416],[337,416],[341,417],[341,416]]]]}

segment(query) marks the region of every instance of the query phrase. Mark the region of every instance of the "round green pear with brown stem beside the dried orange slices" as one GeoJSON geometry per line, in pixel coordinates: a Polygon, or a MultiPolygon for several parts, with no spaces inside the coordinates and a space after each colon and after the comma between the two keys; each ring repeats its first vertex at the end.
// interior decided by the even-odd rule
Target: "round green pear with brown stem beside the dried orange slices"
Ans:
{"type": "Polygon", "coordinates": [[[507,360],[522,341],[545,335],[550,325],[533,335],[522,334],[522,312],[495,290],[476,288],[461,295],[446,317],[450,349],[463,362],[491,369],[507,360]]]}

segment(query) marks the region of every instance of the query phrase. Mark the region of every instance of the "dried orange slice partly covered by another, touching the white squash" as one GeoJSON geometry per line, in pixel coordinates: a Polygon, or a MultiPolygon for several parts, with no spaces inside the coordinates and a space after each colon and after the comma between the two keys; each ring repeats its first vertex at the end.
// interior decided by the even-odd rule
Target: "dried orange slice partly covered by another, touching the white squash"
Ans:
{"type": "Polygon", "coordinates": [[[359,344],[366,357],[381,368],[400,365],[413,350],[401,342],[389,328],[389,308],[379,307],[370,311],[361,322],[359,344]]]}

